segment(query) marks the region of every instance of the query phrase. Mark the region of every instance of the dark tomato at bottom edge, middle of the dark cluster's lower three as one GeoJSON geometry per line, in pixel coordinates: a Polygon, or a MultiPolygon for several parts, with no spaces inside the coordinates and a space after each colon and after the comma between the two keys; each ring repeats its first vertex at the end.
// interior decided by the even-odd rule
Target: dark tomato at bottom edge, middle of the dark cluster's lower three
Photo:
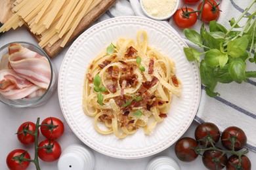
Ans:
{"type": "Polygon", "coordinates": [[[202,156],[203,165],[205,165],[207,169],[223,169],[226,165],[226,161],[228,160],[228,156],[226,156],[226,154],[223,156],[221,155],[222,152],[217,150],[205,150],[202,156]],[[219,161],[217,159],[219,159],[219,161]]]}

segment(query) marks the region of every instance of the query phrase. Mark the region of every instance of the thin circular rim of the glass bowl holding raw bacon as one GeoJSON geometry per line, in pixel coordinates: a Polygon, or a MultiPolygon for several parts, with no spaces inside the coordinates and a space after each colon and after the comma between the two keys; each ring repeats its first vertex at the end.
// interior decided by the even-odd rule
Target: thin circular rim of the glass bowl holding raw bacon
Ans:
{"type": "MultiPolygon", "coordinates": [[[[14,43],[17,43],[17,44],[27,44],[27,45],[30,45],[32,46],[33,48],[35,48],[37,51],[33,51],[33,52],[40,52],[41,54],[43,54],[43,56],[45,58],[47,58],[47,60],[49,61],[49,64],[50,64],[50,68],[51,68],[51,80],[49,82],[49,86],[47,88],[47,90],[45,91],[45,93],[43,93],[43,95],[41,95],[40,97],[38,97],[37,99],[35,99],[35,101],[32,101],[32,103],[18,103],[18,104],[11,104],[11,103],[7,103],[3,100],[0,99],[1,103],[4,103],[6,105],[9,105],[11,107],[18,107],[18,108],[23,108],[23,107],[33,107],[37,104],[39,104],[39,102],[41,101],[41,99],[43,99],[50,91],[51,91],[51,85],[53,84],[53,78],[54,78],[54,66],[53,66],[53,63],[51,61],[51,59],[49,58],[49,56],[47,55],[47,53],[42,49],[40,48],[39,46],[33,44],[32,42],[26,42],[26,41],[12,41],[12,42],[8,42],[7,44],[3,45],[0,47],[0,52],[2,52],[5,48],[8,48],[9,45],[11,44],[14,44],[14,43]]],[[[26,48],[26,47],[25,47],[26,48]]],[[[40,55],[41,55],[40,54],[40,55]]],[[[2,56],[0,56],[0,62],[1,62],[1,58],[2,56]]],[[[1,95],[1,94],[0,94],[1,95]]],[[[8,99],[9,101],[16,101],[16,100],[12,100],[12,99],[8,99]]],[[[20,99],[18,99],[20,100],[20,99]]]]}

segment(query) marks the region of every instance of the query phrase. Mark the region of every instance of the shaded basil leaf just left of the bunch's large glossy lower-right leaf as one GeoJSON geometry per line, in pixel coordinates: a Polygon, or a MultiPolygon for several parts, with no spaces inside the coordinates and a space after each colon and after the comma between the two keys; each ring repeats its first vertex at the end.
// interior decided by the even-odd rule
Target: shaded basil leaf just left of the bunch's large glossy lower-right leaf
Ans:
{"type": "Polygon", "coordinates": [[[218,68],[215,71],[215,77],[221,83],[230,83],[233,81],[233,79],[228,71],[228,64],[224,65],[223,69],[218,68]]]}

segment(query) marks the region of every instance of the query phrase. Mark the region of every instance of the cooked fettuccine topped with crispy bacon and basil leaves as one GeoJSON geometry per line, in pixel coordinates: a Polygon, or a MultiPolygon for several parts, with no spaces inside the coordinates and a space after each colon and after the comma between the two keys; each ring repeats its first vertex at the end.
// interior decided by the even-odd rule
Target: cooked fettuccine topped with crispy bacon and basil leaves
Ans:
{"type": "Polygon", "coordinates": [[[137,41],[119,39],[89,65],[83,111],[98,133],[125,138],[140,127],[146,135],[167,117],[173,95],[181,95],[175,62],[148,46],[146,31],[137,41]]]}

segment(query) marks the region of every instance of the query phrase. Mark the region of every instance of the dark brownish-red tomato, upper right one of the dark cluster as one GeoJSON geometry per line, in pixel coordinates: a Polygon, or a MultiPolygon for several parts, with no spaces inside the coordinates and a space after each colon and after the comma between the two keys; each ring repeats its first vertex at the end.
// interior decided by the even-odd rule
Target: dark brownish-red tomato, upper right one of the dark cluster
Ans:
{"type": "Polygon", "coordinates": [[[234,150],[240,150],[244,148],[247,137],[244,131],[239,127],[227,127],[221,134],[221,143],[228,150],[232,150],[232,140],[234,140],[234,150]]]}

